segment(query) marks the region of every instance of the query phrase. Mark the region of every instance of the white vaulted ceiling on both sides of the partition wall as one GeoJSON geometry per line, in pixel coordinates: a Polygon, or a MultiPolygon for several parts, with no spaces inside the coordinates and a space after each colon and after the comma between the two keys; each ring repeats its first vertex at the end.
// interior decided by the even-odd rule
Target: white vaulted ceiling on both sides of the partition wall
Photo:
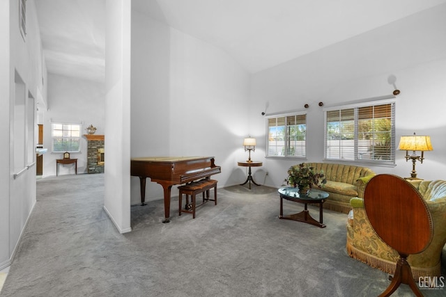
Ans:
{"type": "MultiPolygon", "coordinates": [[[[105,0],[37,0],[48,72],[103,81],[105,0]]],[[[446,0],[132,0],[134,11],[220,47],[249,73],[446,0]]]]}

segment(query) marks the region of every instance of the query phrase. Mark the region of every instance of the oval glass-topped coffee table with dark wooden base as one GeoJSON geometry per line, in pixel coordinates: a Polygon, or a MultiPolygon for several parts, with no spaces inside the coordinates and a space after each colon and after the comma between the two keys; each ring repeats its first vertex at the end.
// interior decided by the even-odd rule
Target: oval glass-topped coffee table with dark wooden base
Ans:
{"type": "Polygon", "coordinates": [[[280,214],[279,218],[283,218],[286,220],[298,220],[299,222],[305,222],[312,225],[316,225],[321,228],[325,228],[326,226],[323,224],[323,212],[322,212],[322,204],[328,198],[328,193],[317,190],[316,188],[312,188],[307,194],[299,193],[299,188],[286,187],[279,188],[280,195],[280,214]],[[298,214],[291,214],[289,216],[284,216],[284,199],[300,202],[305,204],[305,208],[298,214]],[[312,218],[309,215],[309,211],[307,209],[307,204],[319,204],[319,221],[312,218]]]}

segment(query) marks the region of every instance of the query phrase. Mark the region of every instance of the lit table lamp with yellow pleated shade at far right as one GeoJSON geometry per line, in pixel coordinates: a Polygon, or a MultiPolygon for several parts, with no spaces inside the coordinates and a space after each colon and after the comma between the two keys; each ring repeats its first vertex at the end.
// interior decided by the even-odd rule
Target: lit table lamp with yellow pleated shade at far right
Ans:
{"type": "Polygon", "coordinates": [[[431,145],[431,137],[430,136],[417,136],[415,133],[411,136],[401,136],[399,140],[399,150],[406,151],[406,162],[412,160],[412,172],[410,172],[410,179],[419,179],[417,178],[417,172],[415,171],[415,162],[418,160],[420,163],[423,163],[424,160],[424,151],[433,150],[431,145]],[[413,151],[411,155],[408,154],[408,151],[413,151]],[[417,156],[415,151],[421,151],[421,156],[417,156]]]}

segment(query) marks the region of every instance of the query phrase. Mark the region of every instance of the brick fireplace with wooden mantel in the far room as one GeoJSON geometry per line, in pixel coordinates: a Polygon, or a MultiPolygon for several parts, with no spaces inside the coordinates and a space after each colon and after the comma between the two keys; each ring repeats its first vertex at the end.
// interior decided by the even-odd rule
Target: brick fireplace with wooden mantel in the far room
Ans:
{"type": "Polygon", "coordinates": [[[104,135],[84,134],[86,138],[86,167],[89,173],[104,173],[104,135]]]}

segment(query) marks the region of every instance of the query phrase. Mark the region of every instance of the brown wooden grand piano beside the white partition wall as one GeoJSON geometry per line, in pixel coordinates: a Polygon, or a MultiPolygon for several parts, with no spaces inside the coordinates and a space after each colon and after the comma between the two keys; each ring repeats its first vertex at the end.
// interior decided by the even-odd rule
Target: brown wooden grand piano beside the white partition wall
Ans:
{"type": "Polygon", "coordinates": [[[171,188],[222,172],[213,156],[148,156],[130,160],[130,175],[139,177],[141,205],[146,205],[146,178],[164,189],[164,220],[169,223],[171,188]]]}

